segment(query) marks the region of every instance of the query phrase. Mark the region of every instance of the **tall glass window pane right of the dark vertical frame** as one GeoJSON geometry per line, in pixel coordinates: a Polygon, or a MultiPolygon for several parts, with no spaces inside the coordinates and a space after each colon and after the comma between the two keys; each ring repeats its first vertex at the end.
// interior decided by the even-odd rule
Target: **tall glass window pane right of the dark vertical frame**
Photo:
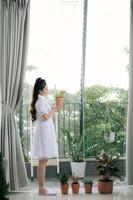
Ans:
{"type": "MultiPolygon", "coordinates": [[[[125,166],[129,0],[89,0],[85,72],[85,155],[103,150],[125,166]]],[[[121,167],[122,168],[122,167],[121,167]]],[[[123,176],[125,176],[125,167],[123,176]]]]}

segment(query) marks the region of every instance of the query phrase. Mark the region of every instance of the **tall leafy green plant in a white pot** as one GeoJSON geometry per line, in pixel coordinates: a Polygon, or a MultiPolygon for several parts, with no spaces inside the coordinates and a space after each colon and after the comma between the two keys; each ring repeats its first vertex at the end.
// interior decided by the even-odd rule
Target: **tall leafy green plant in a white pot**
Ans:
{"type": "Polygon", "coordinates": [[[86,162],[83,159],[83,136],[79,132],[71,132],[70,130],[63,130],[71,155],[71,170],[72,175],[78,175],[83,178],[85,174],[86,162]]]}

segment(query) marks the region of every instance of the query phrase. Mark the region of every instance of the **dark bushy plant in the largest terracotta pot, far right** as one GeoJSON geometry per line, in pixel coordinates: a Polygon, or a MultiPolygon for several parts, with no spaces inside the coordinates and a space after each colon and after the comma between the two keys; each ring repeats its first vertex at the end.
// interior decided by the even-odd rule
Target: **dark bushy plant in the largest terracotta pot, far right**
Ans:
{"type": "Polygon", "coordinates": [[[109,194],[113,192],[113,180],[112,177],[118,177],[119,175],[119,167],[117,164],[118,156],[108,155],[106,153],[102,153],[101,155],[96,157],[98,165],[97,170],[98,174],[102,176],[101,179],[98,180],[98,191],[101,194],[109,194]]]}

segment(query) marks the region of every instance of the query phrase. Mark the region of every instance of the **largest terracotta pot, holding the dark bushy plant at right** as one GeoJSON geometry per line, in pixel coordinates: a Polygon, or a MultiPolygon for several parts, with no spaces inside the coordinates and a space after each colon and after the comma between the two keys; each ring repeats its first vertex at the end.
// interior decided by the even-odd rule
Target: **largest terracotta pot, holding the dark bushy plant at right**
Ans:
{"type": "Polygon", "coordinates": [[[110,194],[113,191],[113,181],[110,180],[110,181],[104,182],[104,181],[99,180],[97,187],[98,187],[99,193],[110,194]]]}

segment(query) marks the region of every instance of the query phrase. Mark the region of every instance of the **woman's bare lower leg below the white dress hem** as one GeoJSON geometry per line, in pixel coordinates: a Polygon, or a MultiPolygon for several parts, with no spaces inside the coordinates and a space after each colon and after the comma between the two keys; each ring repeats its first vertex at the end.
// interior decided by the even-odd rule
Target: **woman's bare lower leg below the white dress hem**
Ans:
{"type": "Polygon", "coordinates": [[[39,192],[45,192],[45,171],[46,171],[46,163],[47,159],[39,160],[38,164],[38,184],[39,184],[39,192]]]}

